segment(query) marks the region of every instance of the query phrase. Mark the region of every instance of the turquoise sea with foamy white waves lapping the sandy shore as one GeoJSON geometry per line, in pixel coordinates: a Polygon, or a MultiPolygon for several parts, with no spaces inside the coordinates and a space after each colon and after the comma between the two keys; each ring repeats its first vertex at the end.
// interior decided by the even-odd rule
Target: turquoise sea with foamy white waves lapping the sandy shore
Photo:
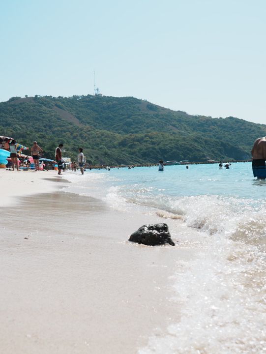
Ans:
{"type": "Polygon", "coordinates": [[[180,321],[138,354],[266,353],[266,181],[251,163],[69,173],[68,192],[156,213],[192,257],[173,270],[180,321]]]}

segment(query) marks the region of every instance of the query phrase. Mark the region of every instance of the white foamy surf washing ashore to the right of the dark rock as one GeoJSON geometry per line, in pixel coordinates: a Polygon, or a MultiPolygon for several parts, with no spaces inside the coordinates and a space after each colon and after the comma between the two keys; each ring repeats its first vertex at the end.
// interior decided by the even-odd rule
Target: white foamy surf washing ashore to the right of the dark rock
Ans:
{"type": "Polygon", "coordinates": [[[199,230],[197,243],[195,235],[180,236],[181,246],[191,241],[198,248],[181,274],[177,262],[181,319],[139,354],[265,353],[265,209],[215,196],[185,198],[180,205],[187,226],[199,230]]]}

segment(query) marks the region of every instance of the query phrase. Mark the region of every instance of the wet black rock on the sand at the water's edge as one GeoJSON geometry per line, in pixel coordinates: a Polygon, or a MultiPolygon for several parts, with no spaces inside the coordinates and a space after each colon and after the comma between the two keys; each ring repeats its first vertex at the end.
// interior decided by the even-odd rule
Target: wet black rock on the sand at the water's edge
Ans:
{"type": "Polygon", "coordinates": [[[168,231],[168,225],[163,223],[143,225],[135,231],[128,240],[143,243],[147,246],[156,246],[165,243],[175,246],[168,231]]]}

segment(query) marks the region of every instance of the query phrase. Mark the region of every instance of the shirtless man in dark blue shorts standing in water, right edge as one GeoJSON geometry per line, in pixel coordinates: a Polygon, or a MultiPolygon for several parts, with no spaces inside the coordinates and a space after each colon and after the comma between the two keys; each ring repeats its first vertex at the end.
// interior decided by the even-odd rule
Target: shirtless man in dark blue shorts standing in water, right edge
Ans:
{"type": "Polygon", "coordinates": [[[266,178],[266,137],[259,138],[255,141],[251,150],[253,157],[252,171],[254,177],[258,179],[266,178]]]}

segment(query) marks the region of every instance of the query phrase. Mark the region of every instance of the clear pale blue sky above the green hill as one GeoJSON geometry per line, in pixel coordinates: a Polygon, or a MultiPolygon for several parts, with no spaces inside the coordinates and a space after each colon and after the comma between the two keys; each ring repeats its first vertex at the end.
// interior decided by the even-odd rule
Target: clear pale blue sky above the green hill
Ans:
{"type": "Polygon", "coordinates": [[[2,0],[0,101],[134,96],[266,124],[266,0],[2,0]]]}

